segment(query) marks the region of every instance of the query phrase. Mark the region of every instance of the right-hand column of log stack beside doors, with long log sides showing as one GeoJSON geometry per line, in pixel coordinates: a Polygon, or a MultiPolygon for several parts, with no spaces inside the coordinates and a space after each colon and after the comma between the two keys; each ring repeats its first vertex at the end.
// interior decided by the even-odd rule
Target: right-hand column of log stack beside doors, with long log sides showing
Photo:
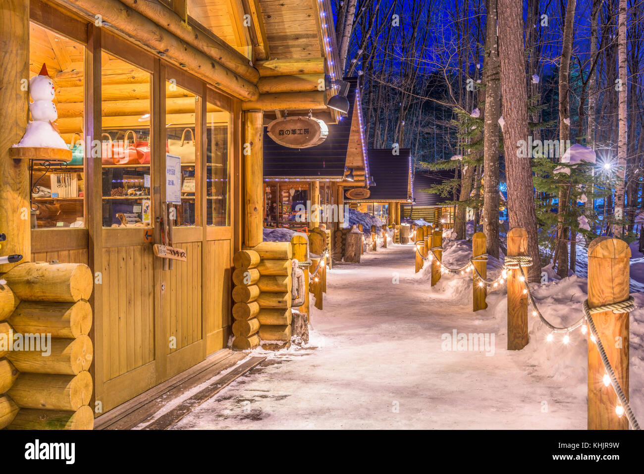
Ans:
{"type": "MultiPolygon", "coordinates": [[[[303,238],[300,236],[300,238],[303,238]]],[[[260,295],[257,302],[260,344],[264,350],[290,347],[292,320],[292,258],[290,242],[262,242],[254,247],[260,256],[260,295]]]]}

